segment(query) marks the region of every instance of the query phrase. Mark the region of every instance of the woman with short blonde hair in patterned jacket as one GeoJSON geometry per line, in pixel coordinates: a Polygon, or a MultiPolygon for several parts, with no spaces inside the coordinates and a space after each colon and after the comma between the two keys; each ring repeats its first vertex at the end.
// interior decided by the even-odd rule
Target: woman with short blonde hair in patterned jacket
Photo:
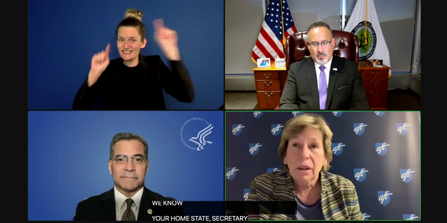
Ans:
{"type": "Polygon", "coordinates": [[[297,213],[260,213],[249,220],[362,220],[356,187],[328,172],[331,144],[323,117],[302,114],[287,121],[279,144],[286,170],[257,176],[247,201],[295,201],[297,213]]]}

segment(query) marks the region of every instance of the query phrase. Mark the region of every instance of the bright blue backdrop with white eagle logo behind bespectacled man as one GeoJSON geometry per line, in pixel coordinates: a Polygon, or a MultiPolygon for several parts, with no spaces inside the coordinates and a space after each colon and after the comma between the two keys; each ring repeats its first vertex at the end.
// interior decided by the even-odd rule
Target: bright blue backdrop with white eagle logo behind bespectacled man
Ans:
{"type": "Polygon", "coordinates": [[[149,190],[181,201],[223,201],[223,112],[29,112],[28,219],[73,220],[77,204],[112,189],[110,141],[149,144],[149,190]],[[212,125],[203,150],[188,139],[212,125]]]}

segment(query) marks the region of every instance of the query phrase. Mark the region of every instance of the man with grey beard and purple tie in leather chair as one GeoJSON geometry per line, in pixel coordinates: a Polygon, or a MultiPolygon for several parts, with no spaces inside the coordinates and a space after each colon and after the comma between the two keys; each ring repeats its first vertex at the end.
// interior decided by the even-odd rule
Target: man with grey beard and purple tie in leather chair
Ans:
{"type": "Polygon", "coordinates": [[[369,110],[358,65],[333,56],[330,26],[315,22],[307,33],[312,58],[291,64],[279,109],[369,110]]]}

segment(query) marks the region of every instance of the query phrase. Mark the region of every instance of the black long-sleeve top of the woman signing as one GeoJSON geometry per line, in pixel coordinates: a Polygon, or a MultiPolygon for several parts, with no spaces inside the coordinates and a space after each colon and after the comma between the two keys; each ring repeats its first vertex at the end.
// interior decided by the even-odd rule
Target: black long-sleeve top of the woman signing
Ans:
{"type": "Polygon", "coordinates": [[[163,89],[180,102],[194,100],[194,86],[182,61],[170,61],[170,70],[160,56],[139,56],[138,66],[129,68],[123,59],[109,66],[90,87],[87,79],[73,102],[73,109],[147,110],[166,109],[163,89]]]}

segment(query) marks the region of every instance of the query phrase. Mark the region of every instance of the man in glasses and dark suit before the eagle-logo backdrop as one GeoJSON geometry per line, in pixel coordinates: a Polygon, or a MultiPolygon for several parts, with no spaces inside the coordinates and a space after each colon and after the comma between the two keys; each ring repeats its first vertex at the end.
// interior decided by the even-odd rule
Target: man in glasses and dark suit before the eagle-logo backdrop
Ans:
{"type": "Polygon", "coordinates": [[[154,216],[183,216],[181,206],[163,208],[152,201],[175,201],[145,187],[148,146],[138,134],[116,134],[110,144],[108,167],[115,187],[78,203],[75,221],[152,221],[154,216]]]}

